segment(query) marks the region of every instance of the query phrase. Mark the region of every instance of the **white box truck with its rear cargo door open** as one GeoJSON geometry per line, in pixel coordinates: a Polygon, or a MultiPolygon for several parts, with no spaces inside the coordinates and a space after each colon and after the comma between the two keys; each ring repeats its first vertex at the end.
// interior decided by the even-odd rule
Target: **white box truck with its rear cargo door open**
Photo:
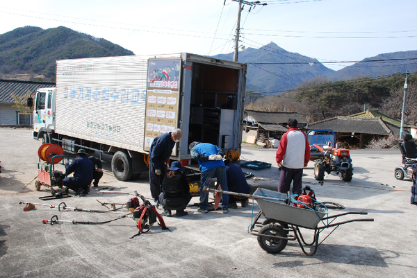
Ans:
{"type": "Polygon", "coordinates": [[[152,141],[181,128],[171,159],[201,141],[240,152],[246,64],[190,53],[56,61],[56,88],[39,89],[33,138],[113,155],[118,180],[146,171],[152,141]]]}

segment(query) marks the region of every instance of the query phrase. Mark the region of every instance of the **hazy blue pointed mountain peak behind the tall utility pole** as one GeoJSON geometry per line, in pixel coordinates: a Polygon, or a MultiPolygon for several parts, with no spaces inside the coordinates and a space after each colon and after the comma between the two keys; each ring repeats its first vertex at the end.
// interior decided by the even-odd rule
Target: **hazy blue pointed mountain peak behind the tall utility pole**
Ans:
{"type": "MultiPolygon", "coordinates": [[[[234,53],[214,57],[233,60],[234,53]]],[[[305,80],[316,76],[328,76],[334,72],[316,59],[286,51],[273,42],[260,49],[247,48],[240,51],[238,62],[248,64],[246,88],[253,89],[263,96],[280,94],[305,80]]]]}

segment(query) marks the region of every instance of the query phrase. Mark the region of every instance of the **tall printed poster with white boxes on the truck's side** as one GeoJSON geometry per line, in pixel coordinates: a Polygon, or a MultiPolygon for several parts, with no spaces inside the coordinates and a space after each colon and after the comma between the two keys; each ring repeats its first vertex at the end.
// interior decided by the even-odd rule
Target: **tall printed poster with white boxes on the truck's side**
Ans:
{"type": "Polygon", "coordinates": [[[148,61],[144,150],[149,151],[158,135],[177,129],[180,73],[180,59],[148,61]]]}

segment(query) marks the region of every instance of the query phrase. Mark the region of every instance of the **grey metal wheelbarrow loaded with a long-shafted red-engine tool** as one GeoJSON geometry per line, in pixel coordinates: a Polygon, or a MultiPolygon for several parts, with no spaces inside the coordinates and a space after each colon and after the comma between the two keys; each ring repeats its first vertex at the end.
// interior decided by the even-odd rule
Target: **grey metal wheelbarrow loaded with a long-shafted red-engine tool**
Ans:
{"type": "Polygon", "coordinates": [[[284,250],[288,241],[297,241],[304,254],[313,256],[313,254],[316,254],[318,245],[325,241],[325,239],[340,225],[352,222],[373,221],[373,218],[359,218],[334,223],[336,219],[341,216],[355,214],[367,215],[368,212],[352,211],[329,216],[326,205],[317,202],[316,200],[314,200],[312,205],[297,201],[291,196],[290,192],[292,189],[290,189],[288,194],[285,194],[259,188],[250,195],[208,189],[207,186],[204,186],[204,192],[206,193],[208,191],[254,198],[256,202],[258,202],[261,210],[252,221],[249,233],[257,236],[259,246],[266,252],[272,254],[284,250]],[[263,223],[258,222],[261,216],[265,216],[266,218],[263,223]],[[322,225],[319,226],[319,223],[322,223],[322,225]],[[313,241],[311,243],[306,243],[302,236],[302,232],[300,231],[300,227],[313,231],[313,241]],[[333,228],[332,231],[327,234],[322,241],[319,241],[320,233],[329,228],[333,228]],[[305,246],[313,248],[310,252],[307,252],[304,248],[305,246]]]}

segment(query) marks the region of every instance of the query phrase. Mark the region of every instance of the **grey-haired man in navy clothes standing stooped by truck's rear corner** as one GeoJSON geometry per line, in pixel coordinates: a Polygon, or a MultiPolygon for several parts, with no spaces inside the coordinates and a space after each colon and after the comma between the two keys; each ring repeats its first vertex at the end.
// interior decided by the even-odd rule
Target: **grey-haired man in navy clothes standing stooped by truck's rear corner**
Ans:
{"type": "Polygon", "coordinates": [[[159,203],[163,178],[167,175],[165,164],[170,159],[175,143],[179,142],[181,137],[182,131],[180,129],[161,134],[155,137],[149,149],[149,185],[152,198],[156,204],[159,203]]]}

